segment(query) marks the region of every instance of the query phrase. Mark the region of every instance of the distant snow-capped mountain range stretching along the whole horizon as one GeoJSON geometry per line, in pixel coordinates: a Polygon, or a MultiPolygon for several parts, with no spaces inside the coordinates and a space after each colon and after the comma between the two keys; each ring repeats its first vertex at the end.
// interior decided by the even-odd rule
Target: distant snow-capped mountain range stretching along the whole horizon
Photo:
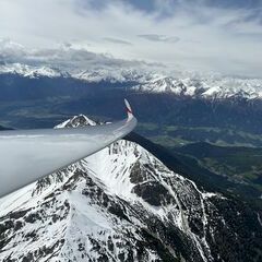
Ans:
{"type": "Polygon", "coordinates": [[[24,78],[72,78],[85,83],[132,83],[132,88],[143,93],[170,93],[205,99],[262,99],[261,79],[240,79],[217,74],[156,73],[138,69],[59,70],[47,66],[21,63],[0,64],[0,74],[19,74],[24,78]]]}

